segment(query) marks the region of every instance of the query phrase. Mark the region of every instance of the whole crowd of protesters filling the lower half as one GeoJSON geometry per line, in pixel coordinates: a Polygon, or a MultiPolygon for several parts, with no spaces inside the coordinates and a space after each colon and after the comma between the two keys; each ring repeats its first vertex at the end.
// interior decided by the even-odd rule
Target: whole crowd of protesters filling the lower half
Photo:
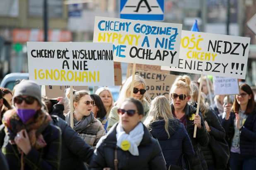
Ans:
{"type": "Polygon", "coordinates": [[[211,80],[203,78],[201,93],[200,81],[177,76],[169,99],[151,101],[145,80],[135,75],[132,84],[130,76],[115,103],[108,87],[94,94],[67,89],[56,103],[32,80],[1,88],[0,169],[256,169],[251,87],[214,96],[211,80]]]}

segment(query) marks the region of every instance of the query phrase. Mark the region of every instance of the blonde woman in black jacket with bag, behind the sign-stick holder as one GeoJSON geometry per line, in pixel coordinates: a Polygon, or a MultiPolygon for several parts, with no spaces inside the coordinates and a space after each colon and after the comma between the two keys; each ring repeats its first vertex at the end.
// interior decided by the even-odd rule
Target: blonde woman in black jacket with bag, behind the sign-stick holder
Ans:
{"type": "MultiPolygon", "coordinates": [[[[225,130],[221,126],[218,116],[209,108],[208,105],[205,104],[205,98],[201,95],[200,102],[198,102],[199,89],[195,84],[191,84],[191,88],[193,89],[193,95],[191,97],[191,102],[193,102],[194,106],[197,106],[199,103],[200,112],[203,115],[205,120],[205,127],[210,136],[213,136],[216,140],[222,140],[225,138],[225,130]]],[[[212,138],[210,138],[211,140],[212,138]]],[[[212,140],[214,140],[212,139],[212,140]]],[[[222,163],[222,161],[218,161],[218,158],[215,158],[214,152],[211,149],[210,144],[207,146],[201,146],[200,149],[203,152],[203,156],[205,157],[208,170],[217,170],[224,169],[227,166],[227,163],[222,163]]],[[[228,151],[227,151],[228,152],[228,151]]],[[[227,157],[228,161],[228,157],[227,157]]]]}

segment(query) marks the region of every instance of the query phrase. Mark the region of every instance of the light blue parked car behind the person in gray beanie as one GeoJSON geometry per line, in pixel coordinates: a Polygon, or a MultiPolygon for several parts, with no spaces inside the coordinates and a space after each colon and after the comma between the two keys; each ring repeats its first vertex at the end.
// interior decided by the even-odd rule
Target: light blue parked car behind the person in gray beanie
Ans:
{"type": "Polygon", "coordinates": [[[2,79],[0,87],[5,87],[5,88],[8,88],[8,89],[12,90],[13,87],[15,85],[19,84],[19,82],[23,79],[29,80],[29,73],[10,73],[10,74],[7,74],[2,79]]]}

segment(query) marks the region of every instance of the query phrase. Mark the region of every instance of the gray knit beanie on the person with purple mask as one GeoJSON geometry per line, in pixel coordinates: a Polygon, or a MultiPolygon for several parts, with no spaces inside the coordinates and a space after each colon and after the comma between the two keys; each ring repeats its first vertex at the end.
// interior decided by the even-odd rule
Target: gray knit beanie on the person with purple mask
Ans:
{"type": "Polygon", "coordinates": [[[21,95],[34,97],[39,102],[39,104],[43,106],[43,103],[41,102],[41,89],[35,81],[24,80],[21,83],[19,83],[14,90],[12,104],[14,104],[14,98],[21,95]]]}

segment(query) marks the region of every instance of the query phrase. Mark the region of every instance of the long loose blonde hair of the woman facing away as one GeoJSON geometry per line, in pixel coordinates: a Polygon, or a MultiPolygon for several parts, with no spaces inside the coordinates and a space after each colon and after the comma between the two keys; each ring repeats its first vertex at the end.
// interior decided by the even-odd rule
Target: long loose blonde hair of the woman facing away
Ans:
{"type": "MultiPolygon", "coordinates": [[[[155,99],[152,100],[151,106],[150,106],[150,111],[148,113],[147,118],[144,120],[145,126],[150,130],[151,123],[155,122],[157,120],[162,120],[164,119],[165,125],[164,129],[168,135],[168,139],[170,138],[169,134],[169,120],[174,120],[179,122],[178,120],[174,119],[172,112],[171,112],[171,106],[169,104],[169,101],[166,97],[162,96],[157,96],[155,99]]],[[[171,128],[172,129],[172,128],[171,128]]]]}

